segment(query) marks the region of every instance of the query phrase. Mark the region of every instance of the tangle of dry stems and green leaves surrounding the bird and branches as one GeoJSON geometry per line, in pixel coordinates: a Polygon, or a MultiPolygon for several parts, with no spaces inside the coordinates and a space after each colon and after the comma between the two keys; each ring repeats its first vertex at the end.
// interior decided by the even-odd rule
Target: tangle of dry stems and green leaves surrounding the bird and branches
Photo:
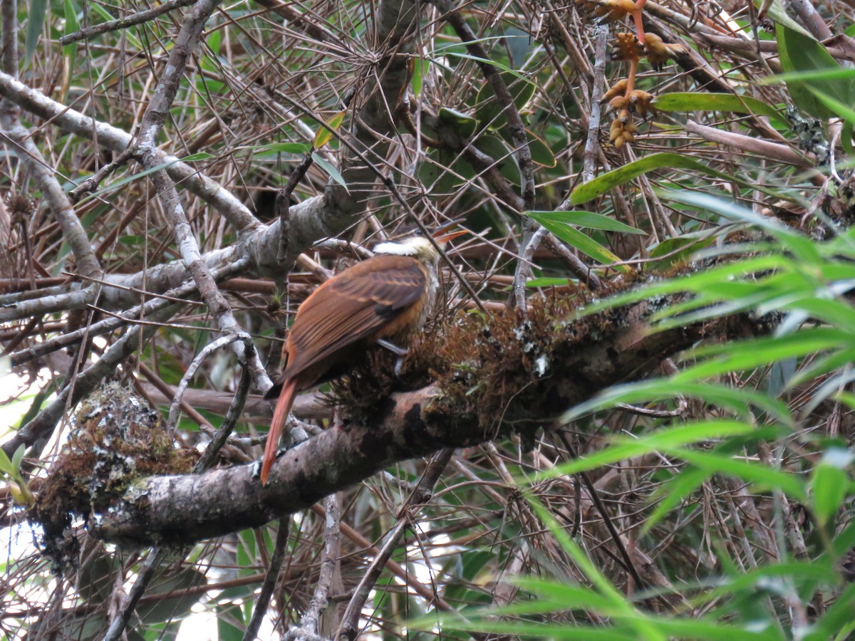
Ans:
{"type": "MultiPolygon", "coordinates": [[[[636,62],[606,59],[606,41],[613,47],[615,32],[632,31],[621,3],[465,5],[461,15],[487,66],[501,73],[523,116],[533,206],[519,196],[520,157],[484,59],[461,43],[444,5],[425,9],[405,87],[410,116],[398,121],[380,166],[391,180],[347,238],[360,243],[404,218],[394,185],[426,224],[465,217],[482,232],[452,256],[488,309],[508,303],[522,273],[529,299],[578,299],[587,303],[580,315],[686,292],[683,303],[663,304],[651,331],[746,314],[766,332],[728,342],[711,335],[664,363],[662,376],[604,390],[535,437],[457,451],[429,500],[408,499],[425,462],[401,462],[325,508],[284,520],[290,537],[268,626],[283,632],[298,624],[325,583],[330,603],[317,632],[332,636],[377,556],[372,546],[398,532],[362,608],[369,638],[433,638],[437,629],[453,638],[848,637],[855,627],[855,25],[845,0],[817,3],[812,19],[796,4],[771,3],[764,17],[739,3],[649,2],[647,31],[683,45],[655,67],[651,51],[636,62]],[[632,105],[606,112],[615,96],[607,97],[600,115],[599,97],[632,65],[632,91],[649,97],[635,94],[632,105]],[[620,145],[611,135],[618,130],[620,145]],[[437,138],[443,142],[433,146],[437,138]],[[527,245],[538,226],[576,262],[555,244],[527,245]],[[525,262],[520,267],[526,252],[530,273],[525,262]],[[573,268],[580,262],[588,271],[573,268]],[[332,526],[331,507],[340,509],[332,526]],[[340,554],[325,575],[333,532],[340,554]]],[[[133,132],[189,9],[73,44],[59,38],[147,8],[21,3],[19,78],[133,132]]],[[[351,99],[383,73],[372,39],[378,11],[363,0],[221,5],[157,143],[264,222],[274,219],[276,192],[312,144],[315,162],[292,201],[346,182],[339,132],[353,118],[351,99]],[[339,135],[319,133],[321,123],[339,135]]],[[[26,109],[21,121],[65,191],[115,157],[26,109]]],[[[23,167],[21,148],[5,134],[2,140],[0,297],[9,309],[86,281],[67,277],[77,273],[68,238],[23,167]]],[[[180,257],[149,178],[125,164],[74,205],[104,273],[180,257]]],[[[238,241],[225,217],[182,194],[201,251],[238,241]]],[[[258,279],[232,279],[221,289],[266,356],[278,350],[270,339],[321,266],[338,269],[351,257],[326,244],[299,263],[284,290],[258,279]]],[[[445,275],[453,322],[467,298],[445,275]]],[[[5,354],[105,314],[97,305],[68,307],[5,322],[5,354]]],[[[135,393],[166,408],[171,399],[158,390],[174,391],[215,327],[200,304],[158,322],[109,378],[133,380],[135,393]]],[[[19,366],[4,382],[19,388],[11,397],[26,415],[10,430],[73,378],[75,359],[78,367],[97,362],[120,336],[19,366]]],[[[240,377],[235,356],[220,350],[192,388],[231,397],[240,377]]],[[[178,425],[188,449],[206,444],[225,414],[217,394],[193,398],[198,413],[178,425]]],[[[314,412],[320,424],[326,410],[314,412]]],[[[256,426],[263,432],[266,420],[263,409],[247,410],[240,438],[218,464],[257,457],[256,426]]],[[[29,544],[27,511],[15,501],[32,503],[44,476],[39,466],[50,464],[56,447],[31,450],[23,462],[24,450],[0,459],[8,542],[0,626],[9,638],[100,638],[147,556],[105,546],[75,522],[80,551],[58,575],[29,544]]],[[[40,533],[36,527],[35,538],[40,533]]],[[[174,638],[188,617],[198,634],[200,617],[209,615],[210,634],[242,638],[276,541],[275,526],[265,526],[172,550],[129,637],[174,638]]]]}

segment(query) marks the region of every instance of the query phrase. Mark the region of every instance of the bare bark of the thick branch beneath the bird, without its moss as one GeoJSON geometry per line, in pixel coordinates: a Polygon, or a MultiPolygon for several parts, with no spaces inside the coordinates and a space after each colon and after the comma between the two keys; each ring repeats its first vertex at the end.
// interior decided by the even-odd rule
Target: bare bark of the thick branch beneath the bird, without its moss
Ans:
{"type": "Polygon", "coordinates": [[[266,488],[253,475],[254,465],[155,477],[134,485],[109,514],[95,515],[91,526],[100,538],[130,544],[189,543],[260,526],[392,462],[536,429],[604,387],[643,377],[663,358],[708,333],[726,334],[735,324],[722,320],[651,334],[644,321],[648,312],[647,303],[623,309],[620,328],[553,359],[551,375],[525,385],[529,396],[524,398],[542,399],[536,409],[520,400],[521,390],[508,391],[504,411],[492,417],[495,424],[488,429],[477,415],[455,408],[454,397],[439,385],[399,392],[376,403],[363,425],[333,427],[286,451],[274,463],[266,488]]]}

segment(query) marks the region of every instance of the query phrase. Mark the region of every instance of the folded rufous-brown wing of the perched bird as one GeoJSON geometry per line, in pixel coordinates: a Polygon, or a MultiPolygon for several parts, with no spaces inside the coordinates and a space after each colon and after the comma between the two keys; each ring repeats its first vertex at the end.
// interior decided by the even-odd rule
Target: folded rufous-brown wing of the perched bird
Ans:
{"type": "Polygon", "coordinates": [[[410,256],[374,256],[318,287],[288,333],[292,349],[283,378],[371,337],[409,309],[427,290],[423,269],[410,256]]]}

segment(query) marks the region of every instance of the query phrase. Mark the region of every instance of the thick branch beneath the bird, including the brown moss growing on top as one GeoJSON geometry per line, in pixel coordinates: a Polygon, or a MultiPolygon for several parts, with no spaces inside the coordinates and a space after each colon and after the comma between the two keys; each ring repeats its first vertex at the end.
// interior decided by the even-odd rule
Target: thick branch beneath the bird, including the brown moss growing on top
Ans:
{"type": "MultiPolygon", "coordinates": [[[[515,332],[519,319],[509,311],[492,319],[489,335],[475,321],[464,322],[422,344],[416,360],[444,359],[454,350],[457,358],[431,384],[374,399],[366,420],[333,427],[286,451],[268,487],[254,477],[253,465],[156,476],[91,517],[91,530],[108,541],[146,545],[186,544],[261,526],[394,462],[534,432],[609,385],[645,377],[700,338],[758,331],[737,316],[653,333],[648,302],[566,323],[554,311],[529,309],[526,335],[515,332]],[[549,362],[542,376],[540,350],[549,362]],[[491,352],[496,356],[486,356],[491,352]],[[475,379],[463,380],[463,370],[475,379]]],[[[566,318],[567,309],[562,312],[566,318]]]]}

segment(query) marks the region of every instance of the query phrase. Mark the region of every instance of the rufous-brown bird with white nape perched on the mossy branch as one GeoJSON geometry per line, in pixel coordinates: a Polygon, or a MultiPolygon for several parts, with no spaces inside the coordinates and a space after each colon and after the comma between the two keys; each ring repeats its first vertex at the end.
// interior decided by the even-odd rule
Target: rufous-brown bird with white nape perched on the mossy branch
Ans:
{"type": "Polygon", "coordinates": [[[439,291],[441,248],[468,233],[460,221],[431,236],[417,230],[374,247],[374,256],[345,269],[300,305],[282,346],[282,373],[265,394],[276,400],[262,457],[268,485],[279,439],[298,392],[345,373],[349,362],[376,345],[403,356],[400,346],[428,320],[439,291]]]}

